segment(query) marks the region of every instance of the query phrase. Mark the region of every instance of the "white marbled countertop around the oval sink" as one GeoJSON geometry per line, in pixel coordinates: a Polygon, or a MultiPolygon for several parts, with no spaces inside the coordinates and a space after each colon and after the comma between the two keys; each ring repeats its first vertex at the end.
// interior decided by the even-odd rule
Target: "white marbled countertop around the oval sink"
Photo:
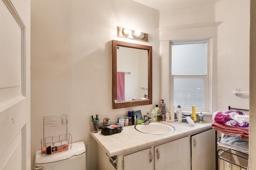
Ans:
{"type": "Polygon", "coordinates": [[[175,131],[166,135],[152,135],[139,132],[134,128],[135,125],[132,125],[123,127],[121,133],[113,135],[105,136],[100,131],[98,133],[91,132],[90,134],[109,156],[115,156],[212,129],[212,122],[197,122],[193,126],[182,122],[161,123],[172,125],[175,131]]]}

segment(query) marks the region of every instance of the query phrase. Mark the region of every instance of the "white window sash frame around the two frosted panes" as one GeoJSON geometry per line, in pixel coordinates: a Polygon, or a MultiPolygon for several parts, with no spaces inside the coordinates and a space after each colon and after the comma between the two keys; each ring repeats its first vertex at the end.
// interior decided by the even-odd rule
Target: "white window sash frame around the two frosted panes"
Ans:
{"type": "MultiPolygon", "coordinates": [[[[174,103],[174,78],[204,78],[204,108],[196,107],[196,112],[209,112],[211,110],[212,99],[212,41],[211,39],[193,39],[170,41],[170,104],[174,103]],[[174,44],[192,44],[192,43],[207,43],[207,72],[206,75],[172,75],[172,45],[174,44]]],[[[175,106],[176,107],[176,106],[175,106]]],[[[191,107],[182,107],[182,111],[192,111],[191,107]]]]}

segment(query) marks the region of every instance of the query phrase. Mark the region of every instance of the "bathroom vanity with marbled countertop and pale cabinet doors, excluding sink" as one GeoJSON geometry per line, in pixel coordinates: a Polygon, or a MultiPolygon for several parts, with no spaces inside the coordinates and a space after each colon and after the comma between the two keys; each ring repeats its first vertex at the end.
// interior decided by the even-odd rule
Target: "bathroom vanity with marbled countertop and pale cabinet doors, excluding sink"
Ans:
{"type": "Polygon", "coordinates": [[[98,170],[215,169],[215,133],[211,123],[165,123],[175,131],[152,135],[137,131],[133,125],[108,136],[91,133],[98,143],[98,170]]]}

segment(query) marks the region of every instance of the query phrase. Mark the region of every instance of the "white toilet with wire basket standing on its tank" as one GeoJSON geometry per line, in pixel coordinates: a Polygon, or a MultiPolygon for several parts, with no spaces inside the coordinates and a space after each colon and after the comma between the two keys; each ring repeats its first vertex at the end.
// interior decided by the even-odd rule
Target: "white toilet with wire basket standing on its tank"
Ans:
{"type": "Polygon", "coordinates": [[[84,142],[72,143],[72,148],[54,154],[42,155],[36,151],[34,170],[86,170],[84,142]]]}

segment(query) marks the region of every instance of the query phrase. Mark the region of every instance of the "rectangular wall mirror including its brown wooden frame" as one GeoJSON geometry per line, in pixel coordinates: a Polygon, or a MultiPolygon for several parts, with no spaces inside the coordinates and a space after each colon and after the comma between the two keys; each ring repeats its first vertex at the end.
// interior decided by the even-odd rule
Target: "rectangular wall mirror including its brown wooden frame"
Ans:
{"type": "Polygon", "coordinates": [[[152,104],[152,46],[112,40],[112,108],[152,104]]]}

